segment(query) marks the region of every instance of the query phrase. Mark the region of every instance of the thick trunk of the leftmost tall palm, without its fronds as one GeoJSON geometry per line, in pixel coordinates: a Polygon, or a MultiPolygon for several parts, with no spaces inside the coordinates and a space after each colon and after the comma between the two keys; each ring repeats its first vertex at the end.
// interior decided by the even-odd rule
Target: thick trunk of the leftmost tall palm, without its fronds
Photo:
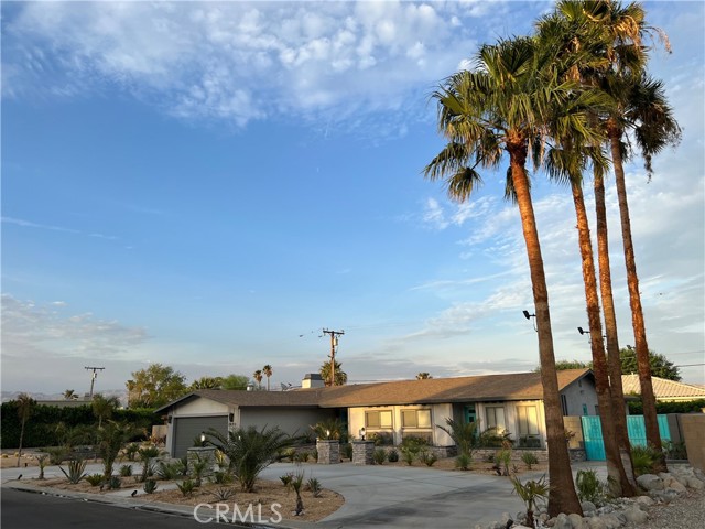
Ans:
{"type": "Polygon", "coordinates": [[[527,245],[533,302],[536,313],[539,334],[539,357],[541,360],[541,382],[543,386],[543,403],[545,407],[546,442],[549,446],[549,515],[576,512],[583,509],[575,493],[575,484],[571,472],[571,458],[565,443],[563,412],[558,392],[558,377],[555,370],[553,336],[551,333],[551,314],[549,311],[549,290],[543,270],[541,244],[536,229],[536,219],[531,203],[529,180],[524,169],[527,150],[523,145],[510,150],[511,175],[517,194],[517,204],[521,215],[521,226],[527,245]]]}

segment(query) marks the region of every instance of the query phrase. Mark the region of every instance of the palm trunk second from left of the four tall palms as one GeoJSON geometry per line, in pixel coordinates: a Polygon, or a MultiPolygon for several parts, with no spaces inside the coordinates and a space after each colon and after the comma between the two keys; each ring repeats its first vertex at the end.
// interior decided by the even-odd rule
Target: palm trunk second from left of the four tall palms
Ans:
{"type": "Polygon", "coordinates": [[[633,496],[633,487],[627,478],[627,473],[619,456],[619,444],[615,436],[615,422],[609,378],[607,376],[607,358],[605,358],[605,344],[603,342],[603,323],[599,314],[599,298],[597,295],[597,280],[595,278],[595,260],[593,257],[593,244],[585,209],[582,183],[572,185],[575,216],[577,218],[578,244],[583,260],[583,282],[585,283],[585,301],[587,304],[587,320],[590,330],[590,350],[593,353],[593,373],[595,375],[595,389],[599,404],[600,424],[605,454],[607,458],[608,484],[616,497],[633,496]]]}

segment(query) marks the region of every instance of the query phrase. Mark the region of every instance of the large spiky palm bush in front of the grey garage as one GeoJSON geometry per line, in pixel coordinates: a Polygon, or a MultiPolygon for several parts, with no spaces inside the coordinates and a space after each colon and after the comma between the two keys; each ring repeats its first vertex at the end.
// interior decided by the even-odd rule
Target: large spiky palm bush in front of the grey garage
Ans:
{"type": "Polygon", "coordinates": [[[291,446],[294,440],[279,428],[254,427],[229,431],[227,435],[210,430],[213,444],[230,460],[230,471],[242,490],[254,490],[260,473],[276,460],[276,454],[291,446]]]}

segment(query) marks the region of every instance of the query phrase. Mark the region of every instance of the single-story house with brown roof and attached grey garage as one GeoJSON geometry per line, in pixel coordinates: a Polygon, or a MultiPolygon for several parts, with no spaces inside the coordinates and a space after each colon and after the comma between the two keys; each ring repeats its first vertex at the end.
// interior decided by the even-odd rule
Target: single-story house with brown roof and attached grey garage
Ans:
{"type": "MultiPolygon", "coordinates": [[[[589,369],[557,373],[564,415],[597,413],[595,379],[589,369]]],[[[159,410],[167,417],[166,450],[181,457],[200,432],[215,428],[276,425],[291,434],[332,418],[347,423],[350,436],[387,435],[394,444],[405,435],[425,438],[435,446],[452,446],[437,428],[447,418],[479,421],[480,430],[508,431],[519,446],[545,445],[543,389],[538,373],[431,378],[317,387],[307,376],[302,389],[289,391],[198,390],[159,410]]]]}

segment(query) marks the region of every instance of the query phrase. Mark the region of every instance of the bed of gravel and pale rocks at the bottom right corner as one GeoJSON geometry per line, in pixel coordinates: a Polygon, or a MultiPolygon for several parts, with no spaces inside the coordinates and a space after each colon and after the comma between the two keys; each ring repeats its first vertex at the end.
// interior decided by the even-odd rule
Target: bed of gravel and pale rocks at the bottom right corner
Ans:
{"type": "MultiPolygon", "coordinates": [[[[644,474],[637,478],[644,493],[634,498],[617,498],[596,507],[583,501],[583,514],[560,514],[549,518],[545,507],[534,514],[536,528],[552,529],[683,529],[705,527],[705,474],[687,465],[673,465],[671,472],[644,474]]],[[[512,520],[505,514],[501,521],[475,529],[521,529],[525,512],[512,520]],[[517,520],[517,521],[513,521],[517,520]]]]}

